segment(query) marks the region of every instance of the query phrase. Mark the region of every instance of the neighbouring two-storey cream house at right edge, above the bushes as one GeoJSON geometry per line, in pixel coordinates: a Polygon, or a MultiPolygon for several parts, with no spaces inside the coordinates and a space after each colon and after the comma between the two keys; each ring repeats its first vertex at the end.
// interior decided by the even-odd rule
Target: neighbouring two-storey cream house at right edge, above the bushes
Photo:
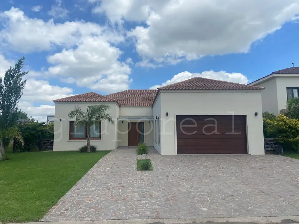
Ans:
{"type": "Polygon", "coordinates": [[[278,70],[248,85],[265,87],[262,92],[263,112],[279,114],[286,109],[286,101],[298,97],[299,67],[278,70]]]}

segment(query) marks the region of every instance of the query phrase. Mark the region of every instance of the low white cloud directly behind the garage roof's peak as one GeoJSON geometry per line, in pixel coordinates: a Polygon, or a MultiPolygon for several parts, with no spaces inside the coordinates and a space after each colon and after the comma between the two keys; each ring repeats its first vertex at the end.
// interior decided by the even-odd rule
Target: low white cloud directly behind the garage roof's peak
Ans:
{"type": "Polygon", "coordinates": [[[214,72],[213,70],[210,71],[204,71],[202,73],[190,73],[190,72],[181,72],[175,76],[173,76],[172,79],[167,80],[166,82],[163,82],[161,85],[154,85],[150,87],[149,89],[157,89],[161,86],[170,85],[176,82],[181,82],[186,79],[192,79],[194,77],[202,77],[207,79],[216,79],[216,80],[222,80],[227,82],[235,82],[235,83],[241,83],[241,84],[247,84],[248,78],[241,74],[241,73],[227,73],[226,71],[219,71],[214,72]]]}

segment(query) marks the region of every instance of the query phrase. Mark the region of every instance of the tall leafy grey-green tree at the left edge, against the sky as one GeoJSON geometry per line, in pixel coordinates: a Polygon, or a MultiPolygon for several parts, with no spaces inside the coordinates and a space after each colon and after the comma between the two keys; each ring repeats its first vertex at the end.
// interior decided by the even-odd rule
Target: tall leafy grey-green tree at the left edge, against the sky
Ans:
{"type": "Polygon", "coordinates": [[[28,71],[22,71],[25,58],[10,67],[4,79],[0,78],[0,128],[5,129],[16,124],[19,115],[18,102],[22,97],[27,80],[22,80],[28,71]]]}

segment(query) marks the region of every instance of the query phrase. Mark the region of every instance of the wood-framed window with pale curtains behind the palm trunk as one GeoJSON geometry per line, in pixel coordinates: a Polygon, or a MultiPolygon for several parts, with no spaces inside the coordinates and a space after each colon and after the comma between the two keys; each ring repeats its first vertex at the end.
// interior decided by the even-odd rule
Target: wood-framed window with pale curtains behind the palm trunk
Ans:
{"type": "MultiPolygon", "coordinates": [[[[70,121],[69,139],[87,139],[86,125],[80,124],[74,128],[74,121],[70,121]]],[[[96,122],[90,127],[90,139],[101,139],[101,122],[96,122]]]]}

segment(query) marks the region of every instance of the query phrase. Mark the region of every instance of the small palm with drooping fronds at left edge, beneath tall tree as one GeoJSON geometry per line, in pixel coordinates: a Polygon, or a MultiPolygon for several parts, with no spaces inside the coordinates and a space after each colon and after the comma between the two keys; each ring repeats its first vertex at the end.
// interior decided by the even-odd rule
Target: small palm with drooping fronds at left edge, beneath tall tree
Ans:
{"type": "Polygon", "coordinates": [[[24,145],[22,132],[17,126],[11,126],[9,128],[0,130],[0,160],[2,160],[3,155],[5,154],[5,150],[3,146],[4,139],[8,139],[9,141],[14,139],[19,141],[22,146],[24,145]]]}

